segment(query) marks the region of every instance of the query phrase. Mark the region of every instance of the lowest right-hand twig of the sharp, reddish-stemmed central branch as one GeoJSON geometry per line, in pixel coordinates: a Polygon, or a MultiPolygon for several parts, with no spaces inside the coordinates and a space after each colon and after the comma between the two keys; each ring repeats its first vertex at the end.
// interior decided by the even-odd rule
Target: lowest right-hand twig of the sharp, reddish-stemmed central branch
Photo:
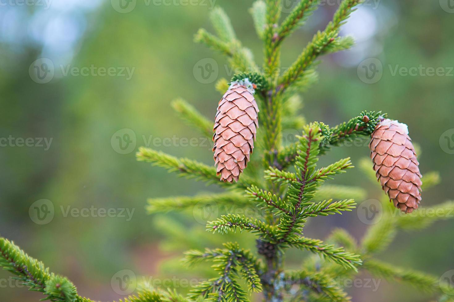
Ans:
{"type": "Polygon", "coordinates": [[[319,254],[323,258],[332,260],[333,262],[342,265],[344,268],[352,269],[355,272],[358,272],[356,266],[362,264],[360,255],[345,252],[344,248],[336,248],[332,244],[324,244],[322,240],[318,239],[306,237],[293,238],[292,240],[287,241],[285,245],[297,249],[306,249],[312,253],[319,254]]]}

